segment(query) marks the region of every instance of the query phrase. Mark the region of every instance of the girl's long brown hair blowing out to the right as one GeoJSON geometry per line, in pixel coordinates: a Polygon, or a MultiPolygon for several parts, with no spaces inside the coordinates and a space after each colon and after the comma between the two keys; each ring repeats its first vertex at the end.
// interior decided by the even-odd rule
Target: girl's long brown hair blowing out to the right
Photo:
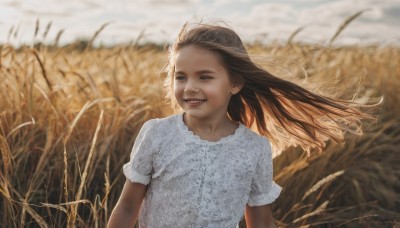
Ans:
{"type": "Polygon", "coordinates": [[[231,97],[229,117],[247,127],[255,125],[278,152],[289,146],[301,146],[308,153],[312,148],[321,151],[328,139],[339,142],[346,132],[361,134],[361,119],[373,119],[358,110],[354,102],[317,95],[270,74],[250,59],[233,30],[201,23],[185,24],[169,50],[164,86],[167,98],[175,106],[172,92],[175,53],[189,45],[219,56],[231,82],[243,85],[231,97]]]}

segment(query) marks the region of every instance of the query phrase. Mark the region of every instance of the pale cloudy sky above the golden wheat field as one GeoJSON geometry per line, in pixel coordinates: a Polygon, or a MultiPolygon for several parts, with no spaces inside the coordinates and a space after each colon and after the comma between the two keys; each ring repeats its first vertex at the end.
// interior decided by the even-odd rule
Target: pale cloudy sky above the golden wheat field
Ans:
{"type": "Polygon", "coordinates": [[[349,16],[366,10],[337,44],[400,43],[400,0],[0,0],[0,44],[90,39],[95,44],[172,42],[186,22],[224,21],[247,42],[326,44],[349,16]],[[34,38],[35,27],[39,29],[34,38]],[[46,27],[50,30],[44,37],[46,27]],[[140,35],[142,34],[142,35],[140,35]]]}

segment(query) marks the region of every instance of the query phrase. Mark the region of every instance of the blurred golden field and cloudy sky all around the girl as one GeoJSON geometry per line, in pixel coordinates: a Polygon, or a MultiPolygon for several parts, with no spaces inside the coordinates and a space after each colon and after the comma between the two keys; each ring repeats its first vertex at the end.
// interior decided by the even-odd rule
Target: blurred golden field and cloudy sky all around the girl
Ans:
{"type": "Polygon", "coordinates": [[[227,22],[278,77],[383,97],[363,109],[377,117],[364,135],[275,157],[278,227],[399,227],[399,12],[395,0],[0,0],[0,226],[106,226],[138,130],[173,113],[165,45],[204,19],[227,22]]]}

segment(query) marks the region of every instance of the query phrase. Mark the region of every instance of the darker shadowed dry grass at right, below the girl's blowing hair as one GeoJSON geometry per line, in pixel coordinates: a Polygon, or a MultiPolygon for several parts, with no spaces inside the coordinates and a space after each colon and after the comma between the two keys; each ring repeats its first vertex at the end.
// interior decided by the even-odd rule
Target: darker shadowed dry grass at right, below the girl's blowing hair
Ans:
{"type": "Polygon", "coordinates": [[[399,148],[400,119],[382,119],[321,155],[286,151],[275,159],[284,186],[275,216],[285,227],[391,227],[400,219],[399,148]]]}

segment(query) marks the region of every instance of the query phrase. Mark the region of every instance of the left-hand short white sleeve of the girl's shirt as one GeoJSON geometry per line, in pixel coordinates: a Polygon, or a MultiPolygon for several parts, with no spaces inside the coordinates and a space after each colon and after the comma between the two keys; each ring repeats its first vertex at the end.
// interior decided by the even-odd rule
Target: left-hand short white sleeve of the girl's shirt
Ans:
{"type": "Polygon", "coordinates": [[[143,124],[132,148],[130,160],[124,164],[123,172],[131,182],[147,185],[153,169],[153,157],[157,151],[155,143],[156,120],[143,124]]]}

